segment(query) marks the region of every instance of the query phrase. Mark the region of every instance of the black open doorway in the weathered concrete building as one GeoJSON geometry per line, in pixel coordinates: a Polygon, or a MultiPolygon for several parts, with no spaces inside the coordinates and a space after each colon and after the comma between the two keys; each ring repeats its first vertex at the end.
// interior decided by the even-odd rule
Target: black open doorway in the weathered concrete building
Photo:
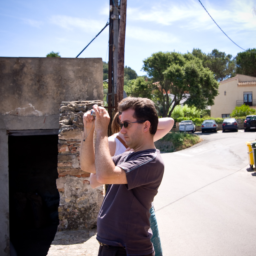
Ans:
{"type": "Polygon", "coordinates": [[[9,136],[8,146],[13,255],[45,256],[59,221],[58,135],[9,136]]]}

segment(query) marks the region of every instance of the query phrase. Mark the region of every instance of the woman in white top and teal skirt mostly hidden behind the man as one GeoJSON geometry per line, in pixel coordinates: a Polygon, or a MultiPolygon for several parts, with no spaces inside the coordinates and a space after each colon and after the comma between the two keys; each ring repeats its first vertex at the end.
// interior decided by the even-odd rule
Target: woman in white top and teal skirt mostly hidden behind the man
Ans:
{"type": "MultiPolygon", "coordinates": [[[[172,129],[173,125],[174,120],[172,118],[159,118],[157,132],[154,136],[154,142],[165,136],[172,129]]],[[[111,129],[113,135],[108,137],[109,151],[111,156],[119,155],[124,151],[132,151],[132,149],[128,148],[128,146],[125,144],[124,136],[120,133],[120,116],[118,112],[114,116],[111,129]]],[[[102,185],[101,183],[97,182],[97,176],[94,173],[91,173],[90,175],[90,185],[92,188],[97,188],[102,185]]],[[[150,227],[152,229],[151,242],[155,249],[155,256],[162,256],[162,247],[153,203],[150,213],[150,227]]]]}

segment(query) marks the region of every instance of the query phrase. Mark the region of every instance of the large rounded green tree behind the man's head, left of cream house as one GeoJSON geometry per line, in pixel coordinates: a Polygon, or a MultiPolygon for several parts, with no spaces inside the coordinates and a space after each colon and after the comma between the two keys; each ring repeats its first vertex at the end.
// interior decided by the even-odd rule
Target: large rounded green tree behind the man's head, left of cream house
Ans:
{"type": "Polygon", "coordinates": [[[182,100],[198,109],[214,104],[219,83],[213,72],[191,53],[160,51],[143,62],[142,69],[151,79],[153,100],[160,116],[170,117],[182,100]]]}

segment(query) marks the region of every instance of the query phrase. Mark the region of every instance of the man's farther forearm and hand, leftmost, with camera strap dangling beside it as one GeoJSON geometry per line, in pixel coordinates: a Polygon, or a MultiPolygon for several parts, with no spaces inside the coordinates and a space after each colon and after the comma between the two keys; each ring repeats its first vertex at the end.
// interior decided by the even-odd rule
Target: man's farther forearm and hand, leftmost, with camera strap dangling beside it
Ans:
{"type": "Polygon", "coordinates": [[[83,171],[96,173],[95,169],[95,153],[93,146],[93,134],[95,128],[95,120],[90,112],[83,115],[84,132],[81,139],[80,149],[80,167],[83,171]]]}

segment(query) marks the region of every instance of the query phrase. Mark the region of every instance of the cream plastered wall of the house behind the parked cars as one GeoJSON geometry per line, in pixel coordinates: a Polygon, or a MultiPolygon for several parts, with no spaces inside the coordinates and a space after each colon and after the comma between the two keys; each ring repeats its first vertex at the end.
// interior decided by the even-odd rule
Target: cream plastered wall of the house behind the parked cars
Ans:
{"type": "Polygon", "coordinates": [[[240,75],[221,81],[219,95],[211,106],[211,117],[221,117],[222,114],[230,114],[237,105],[237,100],[244,100],[244,92],[252,91],[252,98],[256,97],[256,86],[238,86],[238,82],[256,81],[256,77],[240,75]],[[225,94],[226,92],[226,94],[225,94]]]}

